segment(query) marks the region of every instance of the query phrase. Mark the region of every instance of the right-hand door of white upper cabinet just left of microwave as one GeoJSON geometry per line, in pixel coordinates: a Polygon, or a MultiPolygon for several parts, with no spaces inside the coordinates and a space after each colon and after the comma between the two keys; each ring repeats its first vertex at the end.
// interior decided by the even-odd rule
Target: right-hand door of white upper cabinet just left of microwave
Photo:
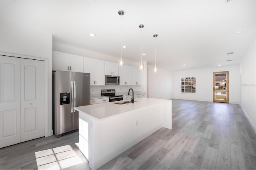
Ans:
{"type": "Polygon", "coordinates": [[[95,60],[94,80],[96,86],[105,85],[105,62],[101,60],[95,60]]]}

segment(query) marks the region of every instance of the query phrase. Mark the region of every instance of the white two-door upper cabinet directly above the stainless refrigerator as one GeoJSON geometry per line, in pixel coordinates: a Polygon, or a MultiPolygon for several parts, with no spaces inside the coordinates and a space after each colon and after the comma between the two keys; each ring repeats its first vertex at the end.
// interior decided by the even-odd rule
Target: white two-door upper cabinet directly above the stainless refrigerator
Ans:
{"type": "Polygon", "coordinates": [[[52,70],[83,72],[83,57],[52,51],[52,70]]]}

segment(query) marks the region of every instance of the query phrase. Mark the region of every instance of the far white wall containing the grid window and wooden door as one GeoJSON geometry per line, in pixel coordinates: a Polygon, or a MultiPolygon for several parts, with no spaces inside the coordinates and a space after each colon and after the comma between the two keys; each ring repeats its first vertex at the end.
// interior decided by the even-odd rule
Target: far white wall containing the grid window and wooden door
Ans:
{"type": "Polygon", "coordinates": [[[213,72],[229,71],[229,103],[239,104],[240,66],[220,66],[174,72],[174,98],[183,100],[213,101],[213,72]],[[181,93],[180,78],[196,77],[196,93],[181,93]]]}

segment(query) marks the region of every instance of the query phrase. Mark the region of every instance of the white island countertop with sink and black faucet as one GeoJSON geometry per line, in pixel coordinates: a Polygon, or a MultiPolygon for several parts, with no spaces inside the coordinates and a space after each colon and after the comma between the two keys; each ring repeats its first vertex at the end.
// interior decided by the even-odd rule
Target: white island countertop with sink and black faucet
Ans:
{"type": "Polygon", "coordinates": [[[122,104],[122,105],[114,104],[114,103],[123,102],[123,101],[129,101],[129,100],[101,103],[101,104],[88,105],[88,106],[79,106],[79,107],[74,107],[74,109],[85,113],[91,118],[102,120],[102,119],[106,119],[108,117],[112,117],[121,113],[126,113],[128,111],[153,106],[163,102],[170,102],[170,100],[164,100],[164,99],[136,98],[134,99],[135,101],[134,104],[132,103],[122,104]]]}

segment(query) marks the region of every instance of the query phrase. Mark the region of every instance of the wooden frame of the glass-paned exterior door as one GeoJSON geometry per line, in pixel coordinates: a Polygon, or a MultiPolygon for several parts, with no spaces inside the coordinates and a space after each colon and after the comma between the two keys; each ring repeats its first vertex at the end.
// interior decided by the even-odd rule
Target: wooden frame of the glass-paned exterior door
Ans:
{"type": "MultiPolygon", "coordinates": [[[[213,98],[212,98],[212,100],[213,100],[213,102],[221,102],[221,103],[229,103],[229,71],[217,71],[217,72],[212,72],[212,81],[213,81],[213,83],[212,83],[212,86],[213,86],[213,93],[212,93],[212,95],[213,95],[213,98]],[[215,89],[215,75],[214,74],[216,74],[216,73],[226,73],[226,91],[225,90],[216,90],[215,89]],[[223,92],[226,92],[226,100],[220,100],[220,101],[214,101],[215,100],[215,91],[223,91],[223,92]]],[[[217,82],[221,82],[221,81],[217,81],[217,82]]]]}

